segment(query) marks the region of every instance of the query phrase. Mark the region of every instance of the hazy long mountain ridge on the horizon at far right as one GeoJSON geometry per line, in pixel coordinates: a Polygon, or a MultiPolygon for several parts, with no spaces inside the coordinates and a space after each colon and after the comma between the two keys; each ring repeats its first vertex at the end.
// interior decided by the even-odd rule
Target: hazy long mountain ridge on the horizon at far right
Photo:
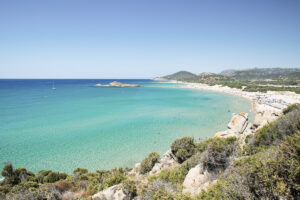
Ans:
{"type": "Polygon", "coordinates": [[[248,70],[225,70],[220,73],[240,80],[264,79],[300,79],[300,69],[297,68],[254,68],[248,70]]]}

